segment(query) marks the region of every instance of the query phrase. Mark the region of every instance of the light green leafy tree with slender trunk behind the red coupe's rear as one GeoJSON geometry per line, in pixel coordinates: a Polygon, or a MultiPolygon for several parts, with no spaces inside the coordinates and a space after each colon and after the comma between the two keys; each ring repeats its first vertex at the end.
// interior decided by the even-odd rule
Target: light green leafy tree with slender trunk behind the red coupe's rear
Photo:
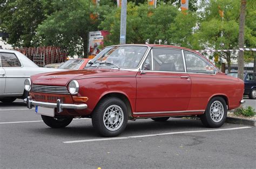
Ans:
{"type": "MultiPolygon", "coordinates": [[[[252,0],[250,3],[253,3],[252,0]]],[[[218,50],[237,49],[239,33],[239,7],[238,1],[211,0],[204,1],[201,8],[205,10],[199,12],[200,20],[198,29],[193,34],[193,46],[198,49],[213,48],[218,50]],[[223,17],[221,13],[224,12],[223,17]]],[[[248,11],[252,11],[248,8],[248,11]]],[[[247,17],[252,17],[253,12],[247,17]]],[[[255,28],[254,28],[255,29],[255,28]]],[[[245,41],[251,47],[255,44],[253,27],[245,25],[245,41]]],[[[249,47],[247,46],[247,47],[249,47]]],[[[217,53],[227,61],[228,72],[231,69],[231,59],[235,58],[231,52],[217,53]]]]}

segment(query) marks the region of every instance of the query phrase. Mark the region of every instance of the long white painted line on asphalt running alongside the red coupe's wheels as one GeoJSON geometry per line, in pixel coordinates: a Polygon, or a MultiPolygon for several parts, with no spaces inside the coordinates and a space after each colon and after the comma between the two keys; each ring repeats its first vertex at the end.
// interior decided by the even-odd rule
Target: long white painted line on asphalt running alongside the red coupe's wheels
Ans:
{"type": "Polygon", "coordinates": [[[140,136],[129,136],[129,137],[114,137],[114,138],[99,138],[99,139],[85,139],[85,140],[73,140],[62,143],[82,143],[82,142],[96,142],[96,141],[105,141],[105,140],[116,140],[116,139],[128,139],[128,138],[142,138],[142,137],[153,137],[153,136],[163,136],[163,135],[175,135],[182,133],[197,133],[197,132],[212,132],[212,131],[226,131],[226,130],[239,130],[239,129],[248,129],[252,128],[250,126],[244,126],[239,128],[229,128],[229,129],[213,129],[213,130],[194,130],[194,131],[179,131],[179,132],[166,132],[158,133],[153,135],[140,135],[140,136]]]}

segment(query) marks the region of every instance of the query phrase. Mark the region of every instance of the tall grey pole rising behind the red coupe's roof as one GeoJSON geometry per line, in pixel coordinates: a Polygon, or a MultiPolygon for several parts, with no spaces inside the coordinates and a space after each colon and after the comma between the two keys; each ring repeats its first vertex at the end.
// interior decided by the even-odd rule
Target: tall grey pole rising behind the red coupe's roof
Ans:
{"type": "Polygon", "coordinates": [[[122,0],[121,8],[121,24],[120,24],[120,44],[126,44],[126,12],[127,11],[127,0],[122,0]]]}

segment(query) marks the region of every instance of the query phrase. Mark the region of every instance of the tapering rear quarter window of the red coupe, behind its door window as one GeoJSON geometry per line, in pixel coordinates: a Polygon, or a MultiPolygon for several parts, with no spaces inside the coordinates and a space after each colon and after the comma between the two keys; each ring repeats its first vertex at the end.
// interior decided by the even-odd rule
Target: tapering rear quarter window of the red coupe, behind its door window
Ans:
{"type": "Polygon", "coordinates": [[[184,51],[187,72],[214,73],[214,67],[196,53],[184,51]]]}

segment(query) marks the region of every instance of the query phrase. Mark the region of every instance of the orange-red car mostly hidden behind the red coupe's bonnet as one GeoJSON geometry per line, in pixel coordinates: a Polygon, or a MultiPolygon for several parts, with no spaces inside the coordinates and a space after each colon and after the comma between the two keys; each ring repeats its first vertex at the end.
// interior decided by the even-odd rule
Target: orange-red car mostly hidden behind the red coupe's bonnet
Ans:
{"type": "Polygon", "coordinates": [[[59,69],[82,70],[91,59],[79,58],[66,61],[59,69]]]}

